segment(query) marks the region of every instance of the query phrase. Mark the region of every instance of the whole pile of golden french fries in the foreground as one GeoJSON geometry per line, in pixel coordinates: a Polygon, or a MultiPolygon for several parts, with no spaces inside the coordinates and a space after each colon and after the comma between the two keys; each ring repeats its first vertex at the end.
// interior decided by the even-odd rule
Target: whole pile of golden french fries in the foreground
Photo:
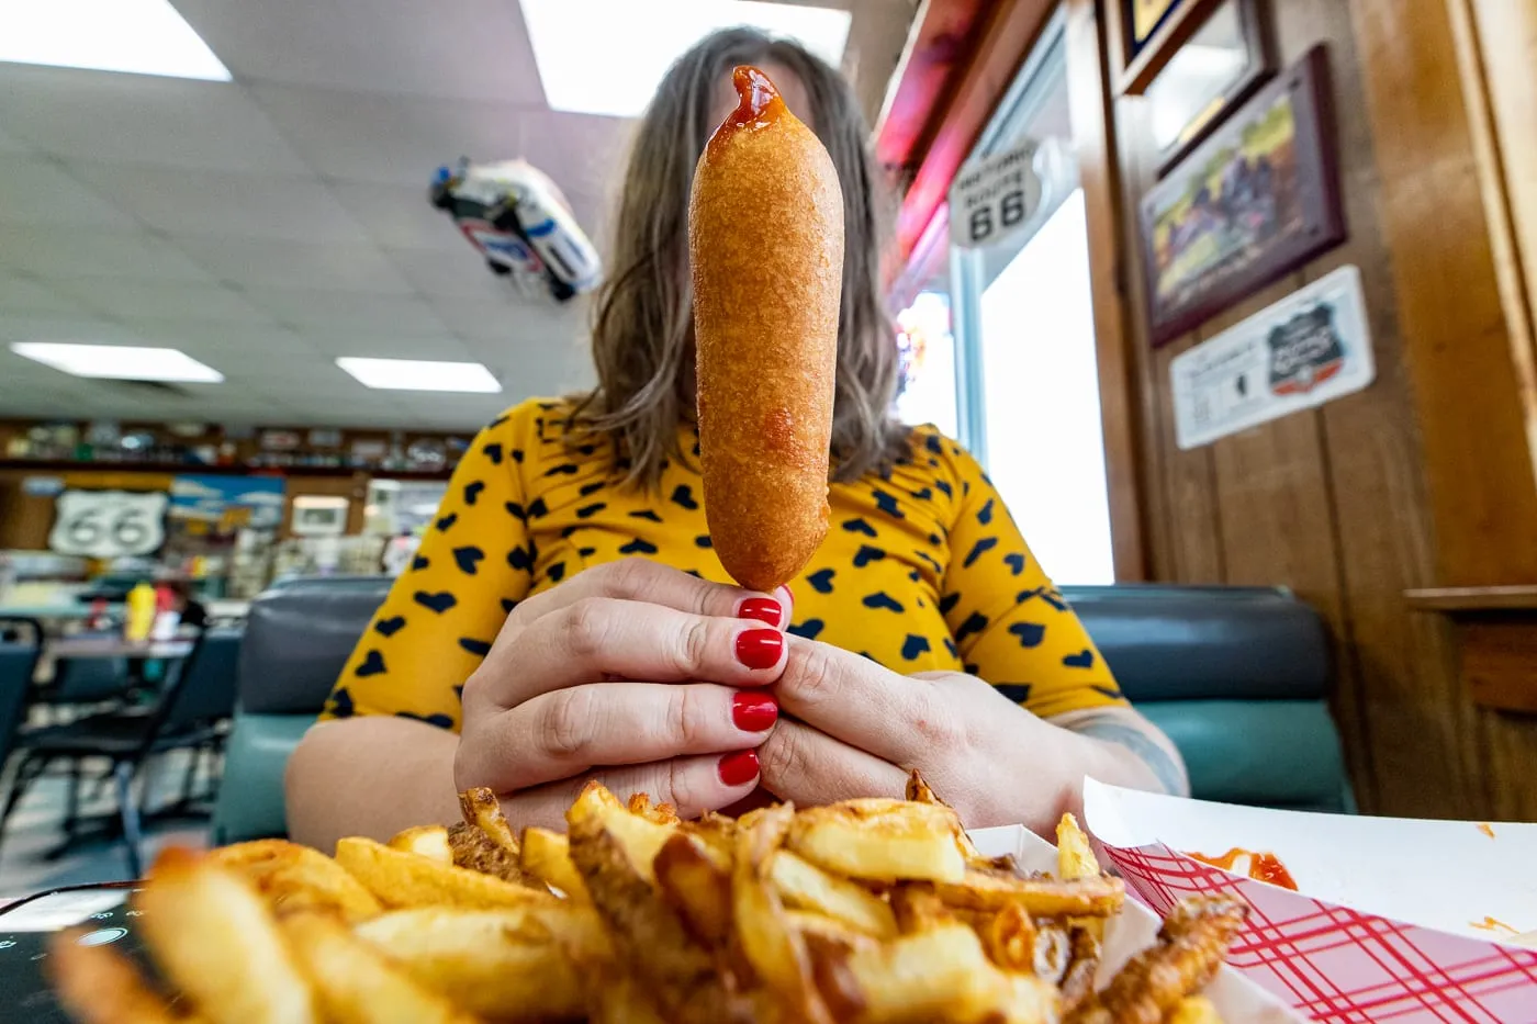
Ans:
{"type": "Polygon", "coordinates": [[[1096,987],[1125,892],[1067,815],[1059,870],[982,858],[908,800],[679,821],[589,783],[569,833],[464,823],[335,858],[281,839],[168,850],[134,896],[157,978],[61,933],[81,1024],[1211,1024],[1199,995],[1247,907],[1188,899],[1096,987]]]}

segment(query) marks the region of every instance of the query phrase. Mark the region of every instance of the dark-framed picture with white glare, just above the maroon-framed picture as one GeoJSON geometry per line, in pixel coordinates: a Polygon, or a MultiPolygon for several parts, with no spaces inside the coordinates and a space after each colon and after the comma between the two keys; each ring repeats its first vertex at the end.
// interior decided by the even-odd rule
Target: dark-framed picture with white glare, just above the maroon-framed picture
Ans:
{"type": "Polygon", "coordinates": [[[1262,0],[1216,0],[1190,38],[1148,81],[1159,177],[1276,74],[1262,0]]]}

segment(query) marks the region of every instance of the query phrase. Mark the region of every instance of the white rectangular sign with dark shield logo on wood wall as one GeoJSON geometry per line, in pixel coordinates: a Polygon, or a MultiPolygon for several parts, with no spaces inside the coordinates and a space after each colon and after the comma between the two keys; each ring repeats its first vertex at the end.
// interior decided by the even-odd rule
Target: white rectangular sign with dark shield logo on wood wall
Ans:
{"type": "Polygon", "coordinates": [[[1373,381],[1360,271],[1342,266],[1170,363],[1182,450],[1373,381]]]}

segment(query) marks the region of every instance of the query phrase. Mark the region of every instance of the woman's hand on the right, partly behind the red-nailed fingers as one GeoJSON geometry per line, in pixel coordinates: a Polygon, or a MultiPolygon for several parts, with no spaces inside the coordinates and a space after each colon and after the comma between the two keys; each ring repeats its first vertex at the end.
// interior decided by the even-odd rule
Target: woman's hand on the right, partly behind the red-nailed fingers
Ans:
{"type": "Polygon", "coordinates": [[[781,800],[901,796],[916,767],[967,827],[1047,830],[1079,807],[1085,773],[1147,784],[1124,747],[1053,726],[973,675],[899,675],[830,644],[788,641],[773,687],[785,718],[759,750],[764,789],[781,800]]]}

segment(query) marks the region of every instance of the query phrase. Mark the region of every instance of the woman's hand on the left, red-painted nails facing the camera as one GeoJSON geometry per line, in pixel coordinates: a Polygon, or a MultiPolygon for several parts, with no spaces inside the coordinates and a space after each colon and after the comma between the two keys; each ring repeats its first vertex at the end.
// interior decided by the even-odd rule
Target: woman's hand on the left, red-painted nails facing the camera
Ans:
{"type": "Polygon", "coordinates": [[[787,597],[632,558],[523,601],[464,684],[455,786],[518,824],[564,821],[593,775],[684,816],[741,800],[778,718],[787,597]]]}

